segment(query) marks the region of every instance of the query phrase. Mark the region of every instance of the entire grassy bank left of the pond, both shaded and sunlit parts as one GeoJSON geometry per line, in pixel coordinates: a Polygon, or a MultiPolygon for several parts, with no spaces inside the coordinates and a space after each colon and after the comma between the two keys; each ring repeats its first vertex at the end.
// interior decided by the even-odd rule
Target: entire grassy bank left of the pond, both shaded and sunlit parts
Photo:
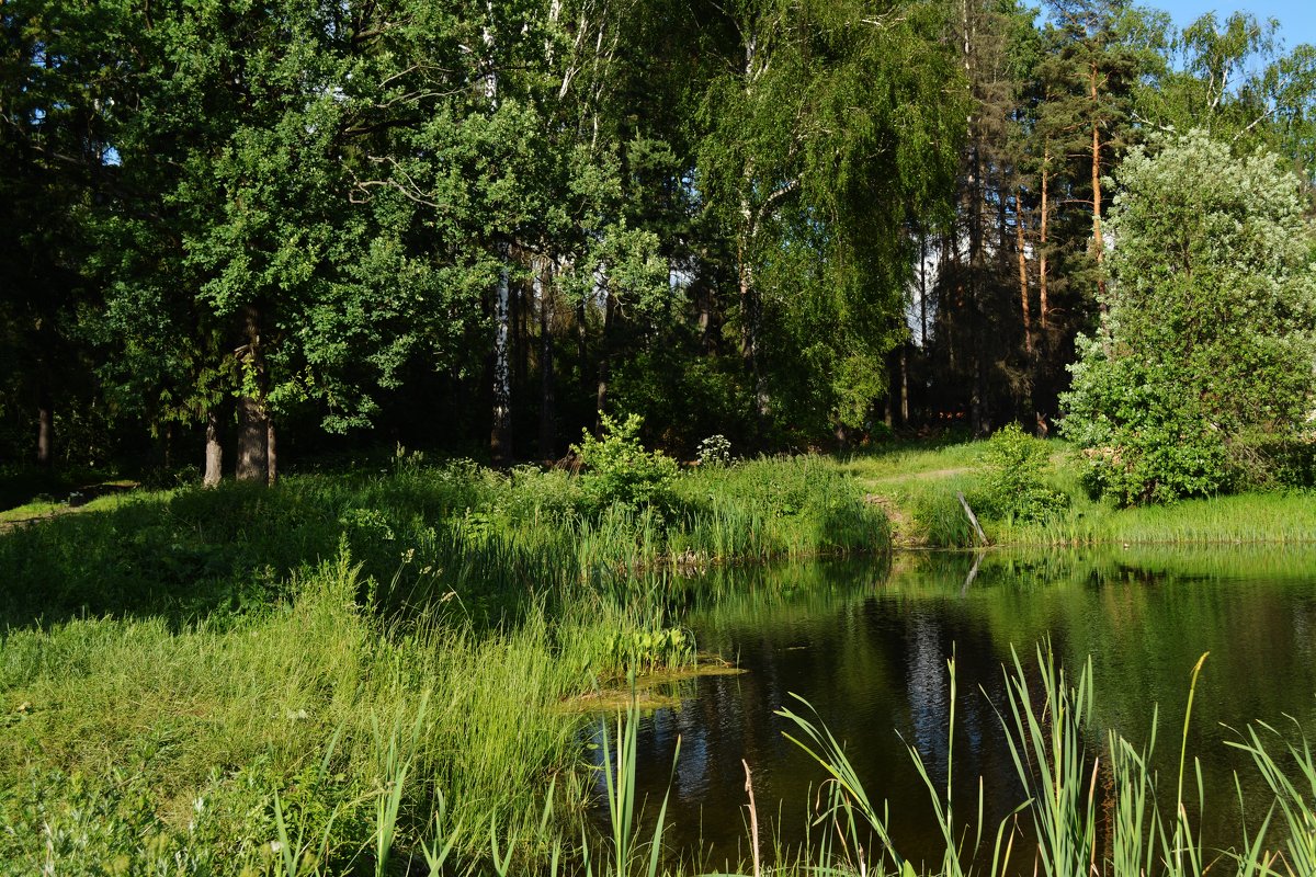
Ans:
{"type": "Polygon", "coordinates": [[[466,865],[492,834],[538,866],[594,782],[565,701],[694,660],[653,573],[886,539],[816,459],[600,508],[563,472],[409,458],[20,525],[0,873],[403,873],[438,813],[466,865]]]}

